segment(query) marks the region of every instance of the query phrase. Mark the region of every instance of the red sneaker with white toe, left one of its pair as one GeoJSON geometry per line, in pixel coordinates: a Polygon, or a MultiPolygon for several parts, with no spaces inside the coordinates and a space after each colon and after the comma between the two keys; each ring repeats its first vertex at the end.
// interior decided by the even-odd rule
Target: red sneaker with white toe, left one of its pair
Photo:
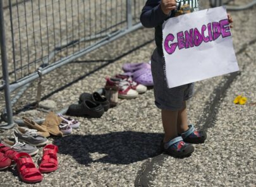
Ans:
{"type": "Polygon", "coordinates": [[[121,80],[120,78],[106,78],[105,88],[118,88],[118,97],[121,99],[133,99],[138,97],[138,92],[131,88],[128,81],[121,80]]]}

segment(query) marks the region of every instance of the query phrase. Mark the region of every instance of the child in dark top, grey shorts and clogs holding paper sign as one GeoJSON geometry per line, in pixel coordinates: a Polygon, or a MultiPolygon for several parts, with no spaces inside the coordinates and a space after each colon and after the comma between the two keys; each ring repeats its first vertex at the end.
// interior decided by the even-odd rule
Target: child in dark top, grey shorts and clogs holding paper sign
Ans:
{"type": "MultiPolygon", "coordinates": [[[[175,88],[168,88],[167,86],[162,52],[162,23],[168,18],[197,11],[198,7],[198,0],[147,0],[140,16],[140,21],[144,27],[155,27],[157,48],[151,57],[151,67],[155,105],[161,109],[164,127],[164,139],[161,142],[161,148],[174,157],[191,155],[194,147],[190,143],[204,143],[207,135],[205,131],[195,130],[192,124],[188,124],[186,100],[192,97],[193,83],[175,88]]],[[[229,15],[228,18],[229,23],[232,23],[229,15]]]]}

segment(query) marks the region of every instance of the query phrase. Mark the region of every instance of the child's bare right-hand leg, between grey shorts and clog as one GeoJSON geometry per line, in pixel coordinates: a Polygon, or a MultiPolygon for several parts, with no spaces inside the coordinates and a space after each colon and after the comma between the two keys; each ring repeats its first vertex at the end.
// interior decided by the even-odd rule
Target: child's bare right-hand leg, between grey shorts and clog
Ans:
{"type": "Polygon", "coordinates": [[[184,107],[178,111],[177,131],[179,134],[188,130],[188,118],[186,114],[186,101],[184,101],[184,107]]]}

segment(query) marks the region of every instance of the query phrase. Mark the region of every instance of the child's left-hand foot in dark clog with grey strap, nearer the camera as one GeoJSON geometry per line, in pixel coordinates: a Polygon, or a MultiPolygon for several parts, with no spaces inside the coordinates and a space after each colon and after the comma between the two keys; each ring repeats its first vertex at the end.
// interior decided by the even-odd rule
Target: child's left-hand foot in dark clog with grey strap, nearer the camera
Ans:
{"type": "Polygon", "coordinates": [[[166,143],[161,142],[161,149],[166,154],[178,158],[188,157],[194,151],[193,145],[183,142],[181,136],[166,143]]]}

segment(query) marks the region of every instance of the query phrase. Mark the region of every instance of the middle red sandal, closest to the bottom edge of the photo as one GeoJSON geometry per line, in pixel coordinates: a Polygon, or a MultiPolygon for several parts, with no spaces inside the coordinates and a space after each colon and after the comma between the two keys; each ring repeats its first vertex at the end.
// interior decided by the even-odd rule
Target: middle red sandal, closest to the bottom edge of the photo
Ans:
{"type": "Polygon", "coordinates": [[[27,153],[15,155],[16,168],[22,181],[26,183],[38,183],[42,181],[42,174],[35,167],[35,164],[27,153]]]}

